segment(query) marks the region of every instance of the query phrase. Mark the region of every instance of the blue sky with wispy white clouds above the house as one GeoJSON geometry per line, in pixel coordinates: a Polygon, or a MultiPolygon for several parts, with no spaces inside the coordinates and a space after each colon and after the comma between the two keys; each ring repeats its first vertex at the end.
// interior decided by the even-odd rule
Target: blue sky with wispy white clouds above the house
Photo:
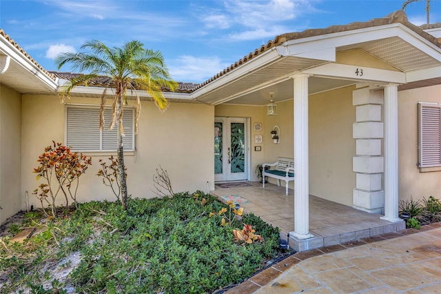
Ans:
{"type": "MultiPolygon", "coordinates": [[[[369,21],[399,10],[404,0],[0,0],[0,28],[46,70],[59,52],[97,39],[107,46],[139,40],[163,52],[172,78],[200,83],[285,32],[369,21]]],[[[407,7],[426,22],[426,1],[407,7]]],[[[431,0],[431,23],[441,0],[431,0]]],[[[64,66],[60,71],[71,71],[64,66]]]]}

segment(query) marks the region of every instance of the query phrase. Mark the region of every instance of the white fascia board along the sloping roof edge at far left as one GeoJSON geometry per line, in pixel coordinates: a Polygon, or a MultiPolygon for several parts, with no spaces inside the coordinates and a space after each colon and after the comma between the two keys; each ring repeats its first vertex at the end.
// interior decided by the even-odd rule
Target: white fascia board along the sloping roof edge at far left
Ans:
{"type": "Polygon", "coordinates": [[[39,78],[45,86],[50,90],[57,89],[57,81],[51,79],[45,72],[38,68],[28,57],[25,57],[21,52],[17,50],[12,44],[5,38],[0,37],[0,51],[5,55],[9,56],[13,61],[18,63],[20,66],[28,70],[32,75],[39,78]]]}

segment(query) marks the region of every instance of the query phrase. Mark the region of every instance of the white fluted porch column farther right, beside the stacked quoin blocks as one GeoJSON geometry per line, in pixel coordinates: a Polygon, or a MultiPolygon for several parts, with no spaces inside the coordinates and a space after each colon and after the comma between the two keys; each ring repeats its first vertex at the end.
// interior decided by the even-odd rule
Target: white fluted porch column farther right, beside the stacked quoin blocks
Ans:
{"type": "Polygon", "coordinates": [[[384,217],[398,217],[398,85],[384,88],[384,217]]]}

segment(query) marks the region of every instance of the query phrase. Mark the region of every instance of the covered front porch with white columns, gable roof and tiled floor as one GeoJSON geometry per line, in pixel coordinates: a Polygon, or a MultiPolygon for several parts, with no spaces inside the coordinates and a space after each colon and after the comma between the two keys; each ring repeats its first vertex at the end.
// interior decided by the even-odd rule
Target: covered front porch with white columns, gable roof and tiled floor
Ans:
{"type": "MultiPolygon", "coordinates": [[[[295,162],[287,198],[283,188],[259,184],[214,193],[249,198],[245,210],[289,233],[296,251],[404,229],[398,91],[438,77],[437,44],[399,11],[280,35],[207,81],[195,91],[198,101],[215,106],[215,117],[249,121],[243,132],[248,181],[257,180],[252,170],[259,164],[278,157],[295,162]],[[265,111],[274,104],[277,113],[265,111]],[[269,136],[275,129],[277,141],[269,136]]],[[[232,147],[223,150],[223,173],[233,173],[232,147]]]]}

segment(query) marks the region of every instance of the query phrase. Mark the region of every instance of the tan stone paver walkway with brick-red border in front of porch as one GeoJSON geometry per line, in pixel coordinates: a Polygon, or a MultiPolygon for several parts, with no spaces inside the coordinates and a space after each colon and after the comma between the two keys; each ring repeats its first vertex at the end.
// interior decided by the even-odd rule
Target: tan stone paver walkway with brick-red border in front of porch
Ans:
{"type": "Polygon", "coordinates": [[[441,293],[441,223],[291,255],[227,293],[441,293]]]}

